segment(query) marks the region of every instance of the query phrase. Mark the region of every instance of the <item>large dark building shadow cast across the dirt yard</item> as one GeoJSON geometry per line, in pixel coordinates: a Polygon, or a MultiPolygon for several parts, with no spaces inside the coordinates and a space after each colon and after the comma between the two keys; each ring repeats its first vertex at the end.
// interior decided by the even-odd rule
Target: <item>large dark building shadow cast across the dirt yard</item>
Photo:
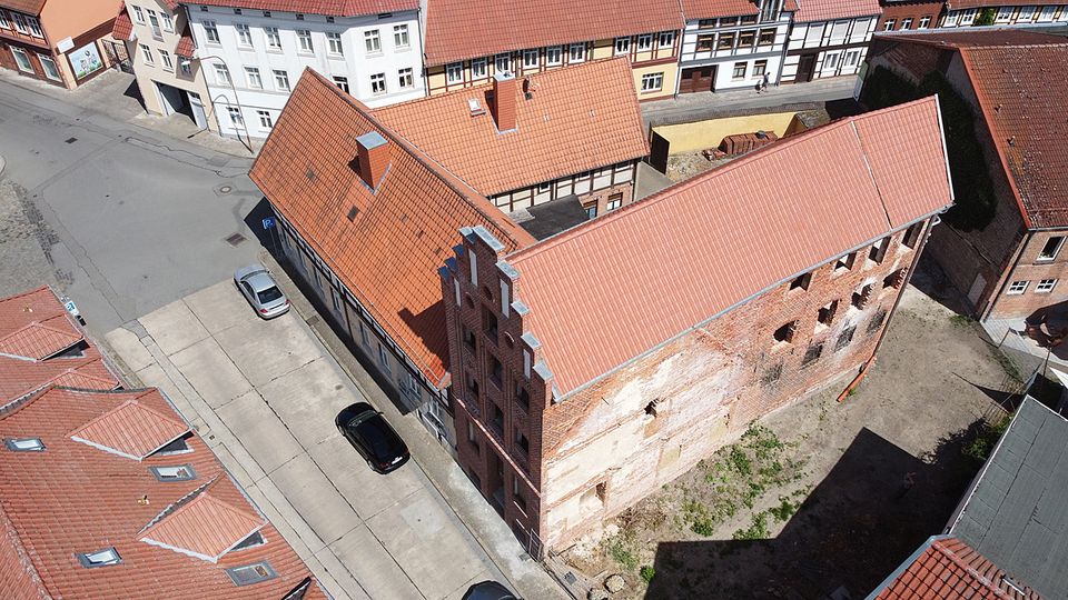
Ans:
{"type": "Polygon", "coordinates": [[[775,538],[662,542],[646,598],[866,597],[941,532],[979,468],[961,454],[979,427],[923,460],[862,429],[775,538]]]}

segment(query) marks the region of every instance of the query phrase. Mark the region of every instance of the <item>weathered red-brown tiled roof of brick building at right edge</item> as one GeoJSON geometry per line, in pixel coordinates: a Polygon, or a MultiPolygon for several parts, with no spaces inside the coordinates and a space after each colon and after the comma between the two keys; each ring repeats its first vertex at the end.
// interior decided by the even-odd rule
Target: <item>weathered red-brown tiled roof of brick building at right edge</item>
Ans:
{"type": "Polygon", "coordinates": [[[1068,226],[1068,43],[971,46],[960,54],[1025,220],[1068,226]]]}

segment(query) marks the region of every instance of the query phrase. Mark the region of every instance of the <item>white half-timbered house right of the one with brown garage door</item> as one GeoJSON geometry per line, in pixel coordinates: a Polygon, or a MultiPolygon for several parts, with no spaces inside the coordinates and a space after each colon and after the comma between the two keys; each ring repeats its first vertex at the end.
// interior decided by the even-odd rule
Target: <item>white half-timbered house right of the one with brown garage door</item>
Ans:
{"type": "Polygon", "coordinates": [[[860,72],[881,13],[877,0],[801,2],[787,44],[782,82],[802,83],[860,72]]]}

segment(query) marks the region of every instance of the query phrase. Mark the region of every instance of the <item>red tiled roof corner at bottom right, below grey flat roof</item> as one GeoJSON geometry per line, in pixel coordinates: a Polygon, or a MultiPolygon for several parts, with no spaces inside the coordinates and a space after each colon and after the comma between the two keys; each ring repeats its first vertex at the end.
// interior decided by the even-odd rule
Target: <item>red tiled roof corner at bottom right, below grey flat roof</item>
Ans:
{"type": "Polygon", "coordinates": [[[923,542],[869,598],[1039,600],[1040,597],[1012,581],[997,564],[967,543],[956,538],[936,536],[923,542]]]}

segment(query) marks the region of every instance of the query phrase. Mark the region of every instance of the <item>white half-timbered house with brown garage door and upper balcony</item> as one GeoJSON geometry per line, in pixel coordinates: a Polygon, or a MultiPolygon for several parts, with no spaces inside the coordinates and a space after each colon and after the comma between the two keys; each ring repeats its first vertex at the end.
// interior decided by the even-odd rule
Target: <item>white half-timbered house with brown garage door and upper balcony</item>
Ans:
{"type": "MultiPolygon", "coordinates": [[[[792,2],[791,2],[792,4],[792,2]]],[[[753,89],[779,82],[792,6],[783,0],[684,0],[686,28],[676,93],[753,89]]]]}

